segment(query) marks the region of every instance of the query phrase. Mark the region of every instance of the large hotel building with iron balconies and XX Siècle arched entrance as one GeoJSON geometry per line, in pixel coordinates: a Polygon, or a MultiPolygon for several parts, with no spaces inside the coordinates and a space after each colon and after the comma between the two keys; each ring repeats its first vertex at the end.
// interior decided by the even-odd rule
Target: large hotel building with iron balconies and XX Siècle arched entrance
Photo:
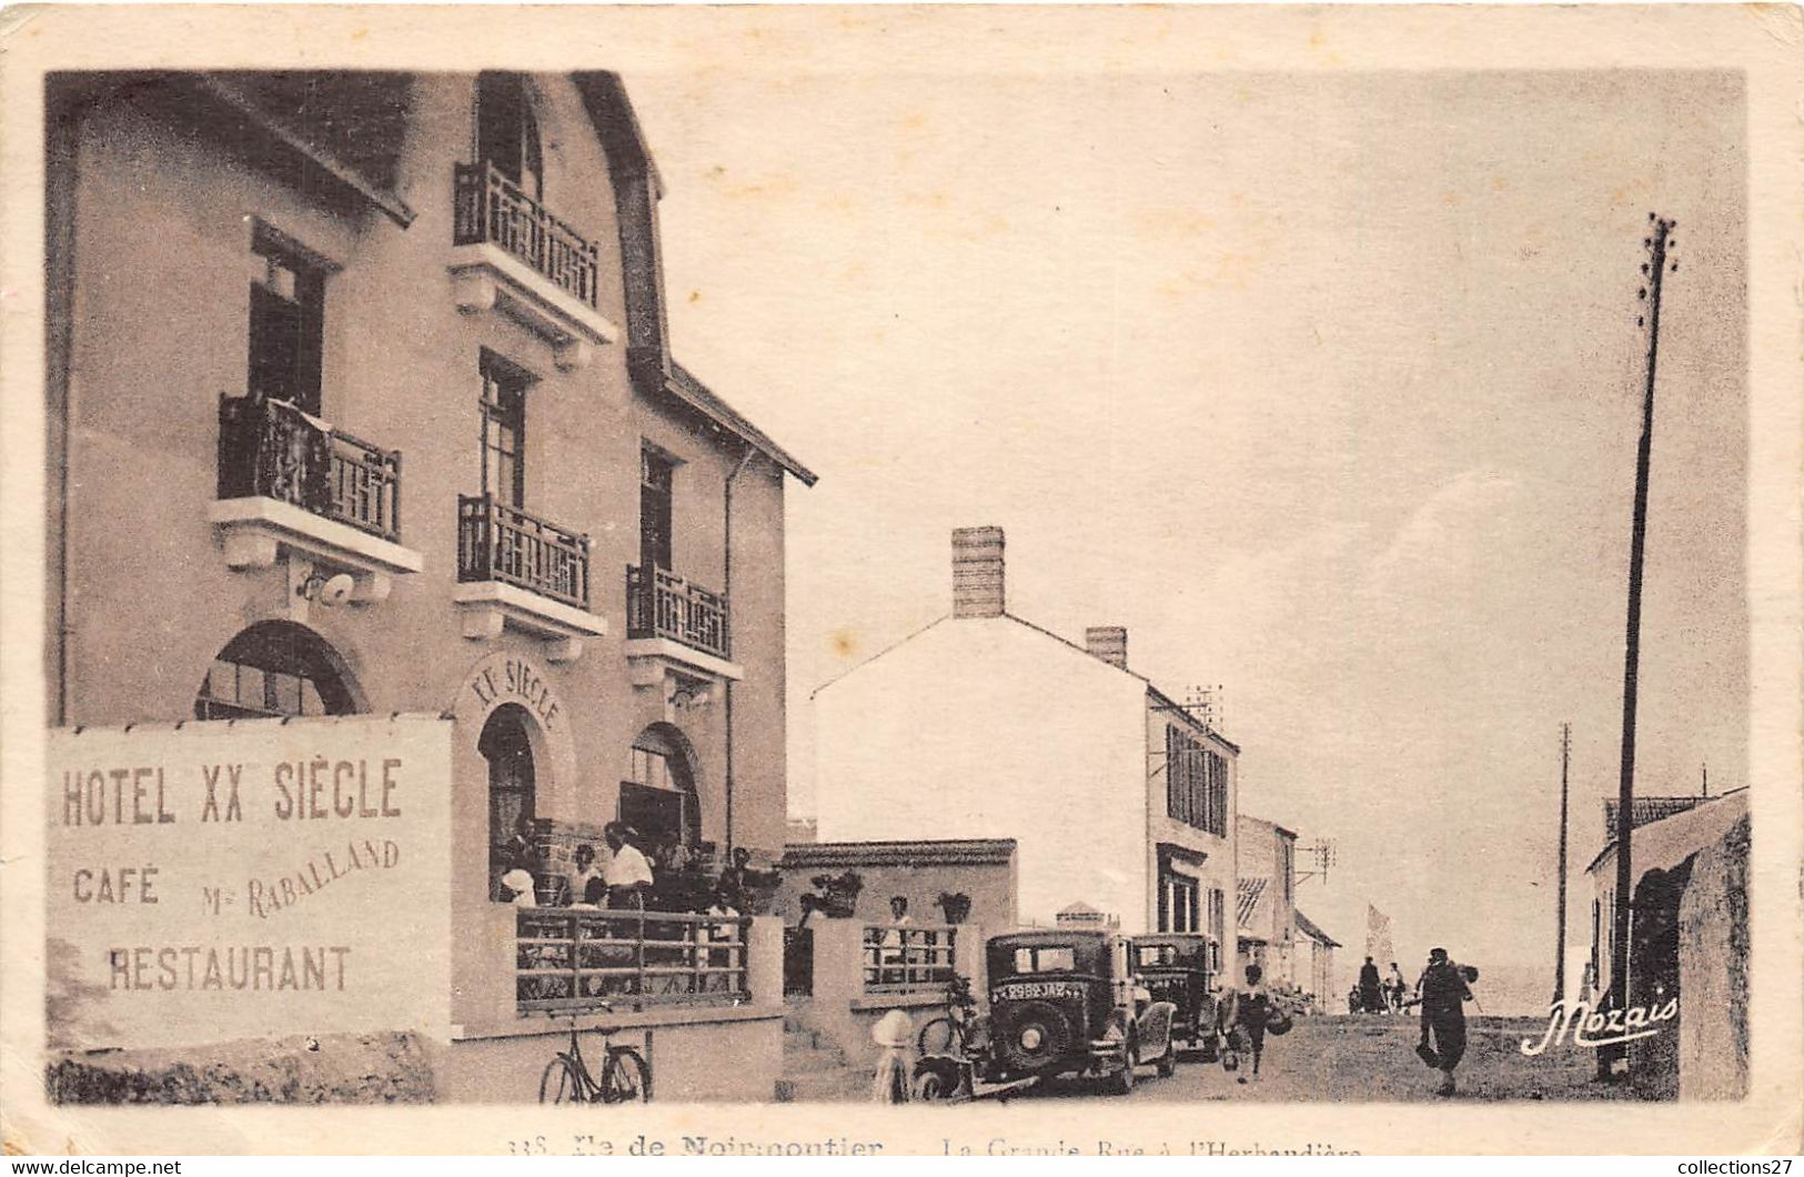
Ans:
{"type": "MultiPolygon", "coordinates": [[[[518,830],[776,861],[814,475],[673,357],[621,79],[63,74],[47,126],[51,724],[447,715],[460,931],[518,830]]],[[[711,1043],[662,1094],[769,1098],[769,1011],[639,1016],[711,1043]]]]}

